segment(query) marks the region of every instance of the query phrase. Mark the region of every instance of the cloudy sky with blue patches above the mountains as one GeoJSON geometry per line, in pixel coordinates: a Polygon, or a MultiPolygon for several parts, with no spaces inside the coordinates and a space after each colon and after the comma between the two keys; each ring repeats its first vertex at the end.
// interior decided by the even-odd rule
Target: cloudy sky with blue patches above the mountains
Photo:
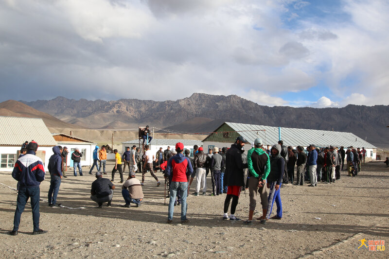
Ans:
{"type": "Polygon", "coordinates": [[[388,0],[0,0],[0,102],[389,105],[388,0]]]}

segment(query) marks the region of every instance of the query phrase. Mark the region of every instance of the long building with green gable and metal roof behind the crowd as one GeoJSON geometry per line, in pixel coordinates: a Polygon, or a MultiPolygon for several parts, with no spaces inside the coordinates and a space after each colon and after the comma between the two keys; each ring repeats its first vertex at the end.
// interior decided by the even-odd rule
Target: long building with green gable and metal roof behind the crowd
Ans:
{"type": "MultiPolygon", "coordinates": [[[[281,137],[286,146],[302,146],[306,148],[310,144],[317,147],[349,146],[366,149],[366,159],[376,159],[377,148],[369,142],[349,132],[311,130],[297,128],[279,128],[264,125],[224,122],[213,133],[203,140],[203,148],[230,147],[238,136],[246,138],[253,143],[255,138],[262,138],[264,146],[277,144],[281,137]]],[[[246,148],[250,149],[250,147],[246,148]]]]}

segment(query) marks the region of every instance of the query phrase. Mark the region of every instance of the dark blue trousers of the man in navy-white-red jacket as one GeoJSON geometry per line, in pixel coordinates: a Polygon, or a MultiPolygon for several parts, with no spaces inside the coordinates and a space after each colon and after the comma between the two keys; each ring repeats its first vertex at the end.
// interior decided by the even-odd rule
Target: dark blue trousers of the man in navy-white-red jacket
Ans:
{"type": "Polygon", "coordinates": [[[18,191],[18,200],[17,200],[15,216],[14,216],[13,231],[18,231],[21,213],[23,213],[24,207],[26,206],[28,198],[30,197],[31,197],[30,203],[33,212],[34,231],[39,230],[39,194],[40,194],[39,186],[20,187],[18,191]]]}

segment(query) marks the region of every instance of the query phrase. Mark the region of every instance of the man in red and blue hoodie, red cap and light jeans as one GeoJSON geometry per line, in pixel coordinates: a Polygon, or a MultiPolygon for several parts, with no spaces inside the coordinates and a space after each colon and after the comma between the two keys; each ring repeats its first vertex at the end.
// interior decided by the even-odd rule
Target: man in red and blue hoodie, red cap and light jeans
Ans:
{"type": "Polygon", "coordinates": [[[184,156],[184,144],[178,142],[176,144],[177,155],[169,158],[166,167],[166,175],[171,178],[170,184],[170,200],[167,223],[173,223],[174,203],[176,201],[177,191],[181,195],[181,223],[188,223],[186,218],[186,197],[188,195],[188,176],[193,173],[191,161],[184,156]]]}

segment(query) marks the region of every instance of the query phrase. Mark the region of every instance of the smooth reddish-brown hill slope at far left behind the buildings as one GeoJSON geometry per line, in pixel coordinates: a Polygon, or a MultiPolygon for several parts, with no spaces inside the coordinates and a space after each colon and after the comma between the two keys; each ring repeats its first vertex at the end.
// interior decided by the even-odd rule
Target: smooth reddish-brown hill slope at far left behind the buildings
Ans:
{"type": "Polygon", "coordinates": [[[58,120],[50,114],[38,111],[26,104],[14,100],[8,100],[0,103],[0,116],[41,118],[47,127],[58,128],[82,128],[65,121],[58,120]]]}

